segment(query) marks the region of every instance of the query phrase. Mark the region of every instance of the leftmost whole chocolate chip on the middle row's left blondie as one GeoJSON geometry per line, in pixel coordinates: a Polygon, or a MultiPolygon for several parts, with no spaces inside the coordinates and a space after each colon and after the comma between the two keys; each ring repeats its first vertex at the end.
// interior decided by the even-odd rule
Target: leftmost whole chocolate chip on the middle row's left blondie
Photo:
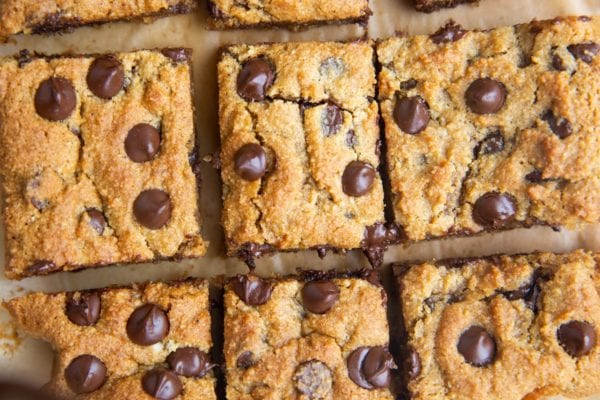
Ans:
{"type": "Polygon", "coordinates": [[[71,81],[65,78],[49,78],[40,83],[35,93],[35,111],[49,121],[67,119],[77,105],[77,94],[71,81]]]}

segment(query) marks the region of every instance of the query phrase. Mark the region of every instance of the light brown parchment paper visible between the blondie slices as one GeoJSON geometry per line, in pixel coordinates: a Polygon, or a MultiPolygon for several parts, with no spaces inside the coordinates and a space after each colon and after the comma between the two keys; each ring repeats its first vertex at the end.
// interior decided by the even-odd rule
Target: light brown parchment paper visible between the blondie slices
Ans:
{"type": "MultiPolygon", "coordinates": [[[[1,1],[1,0],[0,0],[1,1]]],[[[21,36],[7,45],[0,45],[0,56],[20,49],[43,53],[104,53],[141,48],[191,47],[194,49],[194,85],[196,124],[200,153],[206,160],[218,150],[217,128],[217,50],[228,43],[265,41],[349,40],[368,34],[384,38],[396,32],[431,33],[449,18],[467,28],[489,29],[527,22],[532,19],[559,15],[599,15],[600,0],[481,0],[479,5],[464,5],[433,14],[416,13],[409,0],[371,0],[373,16],[367,29],[357,25],[313,28],[302,32],[285,30],[210,31],[206,28],[206,5],[186,16],[157,20],[152,24],[115,23],[95,28],[81,28],[62,36],[21,36]]],[[[219,226],[220,198],[218,171],[209,162],[202,166],[203,231],[210,241],[206,257],[181,263],[115,266],[77,273],[59,273],[19,282],[0,276],[0,299],[9,299],[29,290],[61,291],[97,288],[113,284],[129,284],[154,279],[177,279],[186,276],[214,277],[246,272],[243,263],[226,259],[223,234],[219,226]]],[[[4,229],[0,226],[0,241],[4,229]]],[[[0,246],[3,247],[3,246],[0,246]]],[[[577,232],[554,232],[536,227],[511,232],[486,234],[472,238],[417,243],[396,246],[386,254],[387,263],[430,258],[465,257],[500,252],[530,251],[564,252],[575,248],[600,251],[600,225],[588,226],[577,232]]],[[[3,248],[0,259],[4,259],[3,248]]],[[[324,260],[316,252],[300,252],[264,257],[257,263],[261,275],[288,274],[297,268],[329,269],[360,268],[367,261],[360,252],[346,256],[328,254],[324,260]]],[[[0,270],[3,267],[0,267],[0,270]]],[[[7,313],[0,309],[0,379],[17,378],[41,384],[50,377],[52,351],[41,341],[20,337],[9,323],[7,313]]],[[[600,396],[598,397],[600,399],[600,396]]]]}

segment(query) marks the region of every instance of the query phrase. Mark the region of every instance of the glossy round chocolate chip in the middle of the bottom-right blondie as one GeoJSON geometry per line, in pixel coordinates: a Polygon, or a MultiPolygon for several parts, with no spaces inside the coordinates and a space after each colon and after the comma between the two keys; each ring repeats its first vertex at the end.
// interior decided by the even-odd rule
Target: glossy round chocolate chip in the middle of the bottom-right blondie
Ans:
{"type": "Polygon", "coordinates": [[[472,326],[464,331],[458,339],[457,349],[466,362],[476,367],[491,364],[496,358],[496,342],[480,326],[472,326]]]}

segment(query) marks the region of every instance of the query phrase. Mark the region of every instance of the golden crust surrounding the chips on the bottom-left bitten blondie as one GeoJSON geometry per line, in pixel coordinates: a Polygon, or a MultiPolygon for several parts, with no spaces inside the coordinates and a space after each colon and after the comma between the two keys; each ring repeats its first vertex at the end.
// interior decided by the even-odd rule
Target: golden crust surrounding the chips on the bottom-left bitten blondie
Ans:
{"type": "MultiPolygon", "coordinates": [[[[28,334],[47,340],[56,351],[51,382],[47,389],[68,399],[152,399],[144,392],[144,372],[166,367],[166,358],[180,347],[195,347],[210,354],[210,311],[206,282],[186,281],[172,285],[149,283],[134,288],[101,289],[101,312],[93,326],[79,326],[66,315],[68,293],[33,293],[5,303],[17,324],[28,334]],[[152,346],[134,344],[127,336],[131,313],[145,303],[167,311],[170,330],[152,346]],[[96,391],[76,396],[64,377],[64,370],[76,357],[90,354],[106,366],[107,380],[96,391]]],[[[74,293],[75,297],[80,293],[74,293]]],[[[204,378],[179,376],[183,392],[177,399],[216,399],[212,372],[204,378]]]]}

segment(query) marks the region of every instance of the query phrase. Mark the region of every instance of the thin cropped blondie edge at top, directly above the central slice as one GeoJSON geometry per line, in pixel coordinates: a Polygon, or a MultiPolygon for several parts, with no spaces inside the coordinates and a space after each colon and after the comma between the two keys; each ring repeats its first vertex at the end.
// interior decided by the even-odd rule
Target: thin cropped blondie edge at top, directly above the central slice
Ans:
{"type": "Polygon", "coordinates": [[[213,24],[218,29],[282,26],[300,29],[309,25],[359,23],[366,26],[368,0],[279,0],[240,3],[209,0],[213,24]]]}

